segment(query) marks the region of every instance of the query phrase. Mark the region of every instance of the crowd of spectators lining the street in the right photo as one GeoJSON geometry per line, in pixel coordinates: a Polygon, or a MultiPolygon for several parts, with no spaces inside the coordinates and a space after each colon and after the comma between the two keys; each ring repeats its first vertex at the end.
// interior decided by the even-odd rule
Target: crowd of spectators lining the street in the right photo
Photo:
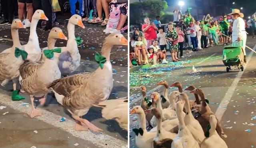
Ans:
{"type": "MultiPolygon", "coordinates": [[[[170,50],[172,61],[177,62],[180,61],[180,58],[184,58],[184,50],[200,51],[216,45],[231,44],[234,42],[230,38],[232,37],[233,22],[236,20],[234,14],[238,14],[237,18],[239,19],[237,20],[244,21],[247,32],[252,33],[253,37],[256,35],[255,14],[248,21],[242,19],[244,15],[240,12],[222,16],[218,20],[214,20],[210,14],[204,16],[202,20],[194,20],[190,10],[191,8],[188,8],[185,15],[182,16],[180,10],[176,8],[174,20],[169,22],[167,26],[161,25],[160,17],[156,16],[156,20],[152,22],[149,18],[144,18],[141,31],[138,28],[132,28],[130,67],[147,63],[152,65],[168,63],[169,60],[166,60],[167,50],[170,50]],[[247,24],[250,24],[249,27],[247,24]],[[140,41],[140,47],[143,48],[138,48],[138,41],[140,41]]],[[[244,53],[244,55],[246,54],[244,53]]]]}

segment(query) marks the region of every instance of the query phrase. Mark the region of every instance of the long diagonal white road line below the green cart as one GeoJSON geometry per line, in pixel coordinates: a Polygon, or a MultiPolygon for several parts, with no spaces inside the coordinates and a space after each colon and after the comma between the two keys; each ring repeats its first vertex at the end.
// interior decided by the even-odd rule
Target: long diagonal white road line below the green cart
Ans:
{"type": "MultiPolygon", "coordinates": [[[[254,45],[253,49],[256,49],[256,45],[254,45]]],[[[246,66],[249,63],[250,59],[252,58],[254,52],[250,52],[249,56],[247,56],[247,63],[244,65],[244,71],[246,70],[246,66]]],[[[239,71],[236,78],[234,79],[233,83],[231,84],[231,86],[229,87],[226,95],[224,96],[224,98],[222,99],[217,111],[215,112],[216,117],[221,120],[224,112],[226,111],[226,107],[228,106],[228,103],[232,97],[232,95],[234,94],[234,91],[236,89],[236,86],[238,84],[238,82],[240,81],[240,78],[242,77],[244,71],[239,71]]]]}

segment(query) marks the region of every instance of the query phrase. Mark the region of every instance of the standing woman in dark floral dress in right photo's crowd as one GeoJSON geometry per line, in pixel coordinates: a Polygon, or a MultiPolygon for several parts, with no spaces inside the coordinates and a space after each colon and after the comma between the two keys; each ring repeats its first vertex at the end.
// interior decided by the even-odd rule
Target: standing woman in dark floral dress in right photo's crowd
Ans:
{"type": "Polygon", "coordinates": [[[178,59],[178,34],[173,29],[172,25],[168,25],[168,31],[166,32],[166,39],[168,39],[168,45],[172,56],[172,61],[177,62],[178,59]]]}

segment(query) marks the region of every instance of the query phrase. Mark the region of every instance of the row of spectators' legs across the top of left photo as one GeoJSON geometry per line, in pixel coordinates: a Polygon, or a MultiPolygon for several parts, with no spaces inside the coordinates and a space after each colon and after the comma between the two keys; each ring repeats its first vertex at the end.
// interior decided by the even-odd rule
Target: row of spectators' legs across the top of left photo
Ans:
{"type": "Polygon", "coordinates": [[[120,33],[127,29],[124,26],[127,22],[128,0],[1,0],[0,17],[3,20],[0,25],[11,25],[12,20],[18,18],[26,27],[30,27],[34,11],[41,9],[47,18],[52,19],[42,21],[38,26],[50,30],[53,26],[58,26],[56,12],[64,9],[60,4],[66,1],[69,3],[71,16],[79,14],[84,22],[100,23],[106,26],[106,33],[120,33]]]}

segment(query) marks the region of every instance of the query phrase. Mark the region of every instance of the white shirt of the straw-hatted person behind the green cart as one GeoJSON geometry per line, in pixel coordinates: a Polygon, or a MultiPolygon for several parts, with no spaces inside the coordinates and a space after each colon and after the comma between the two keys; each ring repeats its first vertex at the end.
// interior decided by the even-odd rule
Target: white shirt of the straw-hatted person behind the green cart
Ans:
{"type": "Polygon", "coordinates": [[[234,20],[232,36],[242,37],[245,34],[245,23],[244,20],[240,17],[234,20]]]}

